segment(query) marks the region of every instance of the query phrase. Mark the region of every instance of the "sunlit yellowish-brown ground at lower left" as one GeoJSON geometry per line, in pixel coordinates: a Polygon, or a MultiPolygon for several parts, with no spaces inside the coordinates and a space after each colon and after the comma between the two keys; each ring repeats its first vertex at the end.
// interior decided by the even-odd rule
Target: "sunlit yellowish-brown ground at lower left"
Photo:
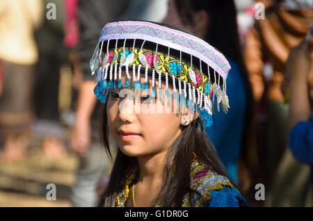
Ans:
{"type": "Polygon", "coordinates": [[[0,161],[0,206],[72,206],[77,164],[74,154],[52,161],[36,150],[24,161],[0,161]],[[56,184],[56,200],[47,200],[47,183],[56,184]]]}

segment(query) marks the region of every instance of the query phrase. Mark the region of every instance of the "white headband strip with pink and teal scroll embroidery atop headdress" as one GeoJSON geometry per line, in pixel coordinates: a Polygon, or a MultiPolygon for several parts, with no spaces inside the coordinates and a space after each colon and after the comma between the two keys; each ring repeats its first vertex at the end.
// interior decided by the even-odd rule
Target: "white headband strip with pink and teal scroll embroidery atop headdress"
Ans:
{"type": "Polygon", "coordinates": [[[220,54],[214,47],[207,42],[196,38],[188,33],[177,31],[174,29],[159,26],[158,24],[148,22],[113,22],[106,24],[102,28],[99,42],[109,38],[125,39],[140,38],[158,42],[174,49],[185,51],[188,54],[202,59],[209,63],[211,67],[215,67],[218,73],[225,79],[230,70],[230,64],[227,62],[223,54],[220,54]],[[149,39],[150,38],[150,39],[149,39]]]}

